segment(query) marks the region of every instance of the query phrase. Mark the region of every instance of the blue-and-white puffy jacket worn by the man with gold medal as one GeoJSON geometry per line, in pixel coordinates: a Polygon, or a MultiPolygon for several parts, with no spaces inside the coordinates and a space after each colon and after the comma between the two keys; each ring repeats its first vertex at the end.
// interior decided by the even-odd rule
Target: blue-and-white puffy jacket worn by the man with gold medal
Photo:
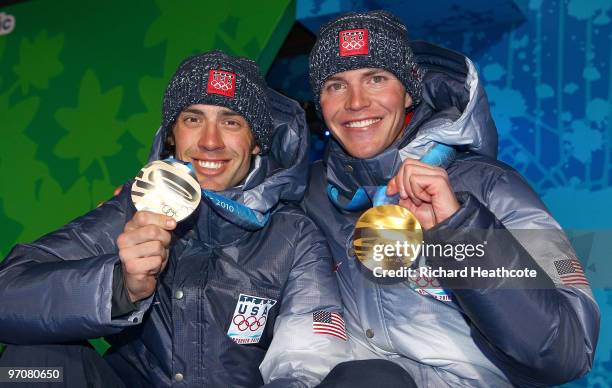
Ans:
{"type": "Polygon", "coordinates": [[[582,376],[592,366],[599,310],[588,285],[565,284],[555,266],[575,259],[571,245],[523,178],[495,160],[497,131],[469,59],[424,42],[413,50],[427,73],[403,137],[372,159],[353,158],[332,141],[311,170],[304,200],[336,261],[354,356],[394,361],[423,387],[546,386],[582,376]],[[426,242],[461,243],[477,231],[481,242],[495,243],[476,262],[421,257],[417,265],[527,267],[537,269],[537,279],[425,285],[364,276],[352,249],[362,211],[334,205],[328,184],[346,201],[359,187],[386,185],[404,159],[436,143],[459,152],[447,172],[461,207],[428,231],[426,242]]]}

